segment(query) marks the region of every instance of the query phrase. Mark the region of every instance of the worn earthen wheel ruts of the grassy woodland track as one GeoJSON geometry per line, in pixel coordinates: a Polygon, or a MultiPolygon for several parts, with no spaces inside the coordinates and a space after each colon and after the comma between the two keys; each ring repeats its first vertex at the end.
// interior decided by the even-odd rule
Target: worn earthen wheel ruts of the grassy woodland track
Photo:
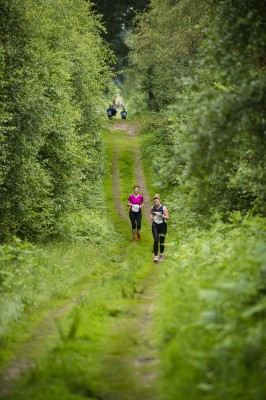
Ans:
{"type": "MultiPolygon", "coordinates": [[[[133,155],[135,183],[140,186],[141,193],[145,199],[144,217],[148,232],[150,227],[150,200],[145,184],[144,173],[141,168],[140,150],[138,144],[136,144],[138,133],[137,128],[136,124],[130,122],[115,122],[112,125],[111,131],[120,131],[129,139],[127,151],[129,153],[131,152],[131,155],[133,155]]],[[[130,236],[128,208],[125,204],[121,203],[120,197],[120,171],[118,165],[120,150],[119,146],[113,147],[113,201],[120,219],[128,225],[130,236]]],[[[145,233],[145,236],[151,236],[151,233],[145,233]]],[[[151,245],[151,238],[146,238],[146,250],[145,239],[141,244],[138,244],[140,246],[140,257],[141,251],[147,251],[147,243],[148,246],[151,245]]],[[[152,260],[152,255],[150,256],[150,259],[152,260]]],[[[106,354],[103,357],[106,360],[107,365],[113,366],[113,371],[108,372],[108,377],[106,378],[106,376],[103,376],[102,378],[103,380],[107,379],[111,382],[109,385],[109,387],[111,387],[110,393],[107,395],[108,399],[159,400],[157,390],[155,389],[155,383],[157,381],[157,349],[151,335],[151,321],[154,301],[156,298],[157,280],[158,268],[156,268],[151,262],[149,273],[137,288],[137,297],[132,301],[132,304],[127,310],[128,314],[133,317],[125,319],[122,315],[121,318],[116,318],[115,327],[111,328],[113,330],[112,335],[114,337],[119,337],[120,339],[122,338],[122,343],[118,340],[111,343],[110,349],[105,350],[106,354]],[[123,346],[124,350],[121,351],[121,347],[123,346]],[[117,352],[115,350],[116,347],[119,350],[117,352]],[[119,353],[119,355],[117,355],[117,353],[119,353]],[[124,387],[120,388],[120,382],[123,381],[124,378],[130,382],[126,390],[124,387]]],[[[94,282],[93,285],[97,285],[97,282],[94,282]]],[[[25,373],[34,370],[36,363],[38,364],[38,348],[43,346],[45,341],[47,341],[47,337],[51,337],[52,342],[58,338],[57,324],[55,320],[75,307],[75,304],[77,304],[82,298],[83,293],[85,294],[89,290],[90,288],[86,287],[77,293],[68,304],[47,313],[46,317],[40,321],[36,329],[32,332],[29,340],[21,347],[17,358],[10,363],[4,376],[2,376],[0,397],[1,395],[8,396],[13,383],[23,377],[25,373]]]]}

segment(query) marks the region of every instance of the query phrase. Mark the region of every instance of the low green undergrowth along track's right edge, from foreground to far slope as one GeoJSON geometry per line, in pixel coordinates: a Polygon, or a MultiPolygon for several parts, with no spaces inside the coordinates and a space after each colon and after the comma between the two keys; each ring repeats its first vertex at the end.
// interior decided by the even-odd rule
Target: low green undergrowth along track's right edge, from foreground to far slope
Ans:
{"type": "MultiPolygon", "coordinates": [[[[192,177],[189,185],[181,178],[169,185],[171,130],[163,124],[163,117],[143,117],[145,173],[170,211],[171,243],[168,234],[154,323],[161,397],[262,400],[265,218],[222,213],[219,205],[212,212],[192,177]]],[[[211,186],[206,190],[212,196],[211,186]]]]}

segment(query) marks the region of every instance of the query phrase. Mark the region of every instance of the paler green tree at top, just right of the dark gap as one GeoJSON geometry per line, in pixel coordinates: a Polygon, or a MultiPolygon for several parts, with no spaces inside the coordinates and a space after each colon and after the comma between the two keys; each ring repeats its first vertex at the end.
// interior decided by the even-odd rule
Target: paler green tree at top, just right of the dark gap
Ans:
{"type": "Polygon", "coordinates": [[[182,79],[194,75],[206,11],[201,0],[152,0],[150,9],[136,19],[131,61],[143,76],[151,108],[173,103],[184,89],[182,79]]]}

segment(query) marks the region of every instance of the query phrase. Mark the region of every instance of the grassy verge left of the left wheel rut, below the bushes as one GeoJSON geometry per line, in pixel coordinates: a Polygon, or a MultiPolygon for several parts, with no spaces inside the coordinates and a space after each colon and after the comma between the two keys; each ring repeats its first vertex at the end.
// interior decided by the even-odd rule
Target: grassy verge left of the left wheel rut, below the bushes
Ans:
{"type": "Polygon", "coordinates": [[[48,310],[78,297],[89,281],[101,276],[102,258],[107,254],[106,249],[88,243],[53,243],[40,249],[15,242],[6,247],[1,268],[7,276],[2,280],[0,301],[1,366],[29,339],[48,310]]]}

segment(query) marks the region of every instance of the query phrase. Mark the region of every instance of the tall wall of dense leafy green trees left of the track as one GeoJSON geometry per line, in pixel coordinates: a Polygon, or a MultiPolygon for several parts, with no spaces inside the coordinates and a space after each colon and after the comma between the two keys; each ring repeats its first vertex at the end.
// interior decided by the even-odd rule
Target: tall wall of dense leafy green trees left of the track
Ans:
{"type": "Polygon", "coordinates": [[[89,2],[3,0],[0,18],[1,239],[45,238],[92,206],[110,55],[89,2]]]}

